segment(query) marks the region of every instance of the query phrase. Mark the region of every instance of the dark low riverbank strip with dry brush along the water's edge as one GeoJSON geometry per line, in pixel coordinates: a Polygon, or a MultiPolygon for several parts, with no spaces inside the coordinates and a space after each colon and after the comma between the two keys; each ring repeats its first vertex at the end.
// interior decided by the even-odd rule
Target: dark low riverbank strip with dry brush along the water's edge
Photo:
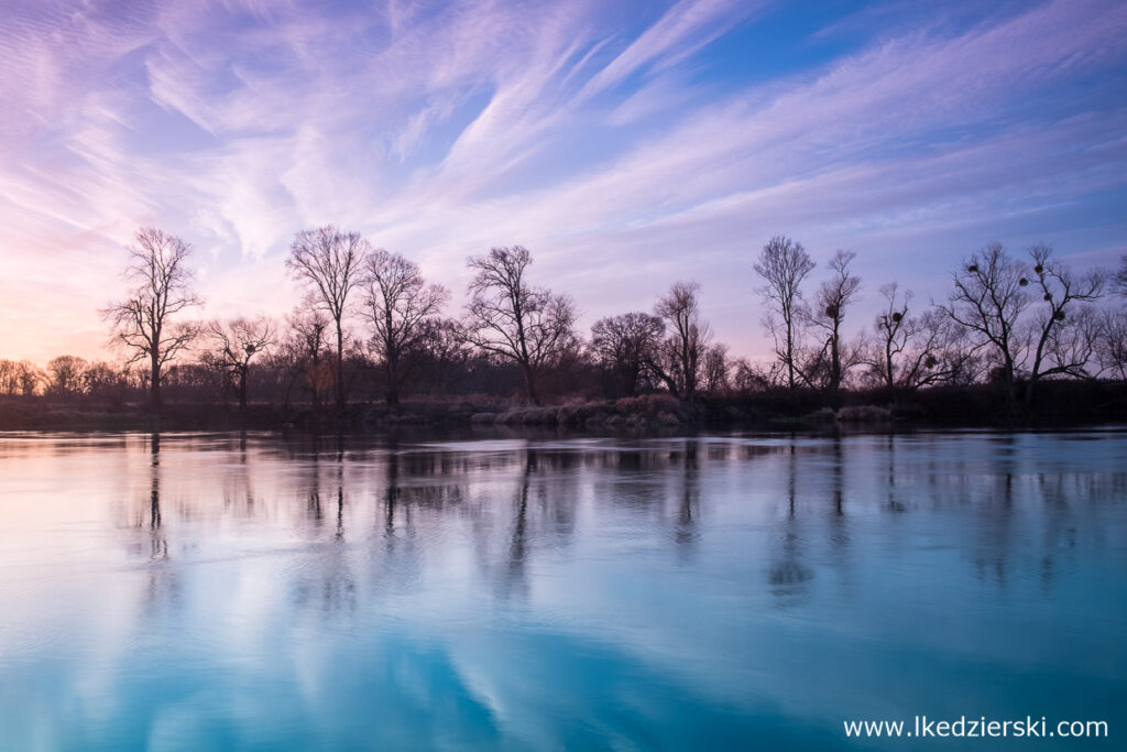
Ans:
{"type": "Polygon", "coordinates": [[[341,416],[310,405],[166,405],[159,417],[140,404],[96,404],[48,397],[0,398],[0,431],[260,430],[381,432],[396,426],[541,426],[586,431],[691,427],[806,430],[827,425],[1070,426],[1127,421],[1122,382],[1044,382],[1030,409],[1010,407],[990,386],[914,392],[849,391],[832,400],[799,390],[702,397],[668,395],[618,400],[566,399],[529,405],[490,396],[414,399],[400,405],[349,405],[341,416]],[[835,404],[836,402],[836,404],[835,404]]]}

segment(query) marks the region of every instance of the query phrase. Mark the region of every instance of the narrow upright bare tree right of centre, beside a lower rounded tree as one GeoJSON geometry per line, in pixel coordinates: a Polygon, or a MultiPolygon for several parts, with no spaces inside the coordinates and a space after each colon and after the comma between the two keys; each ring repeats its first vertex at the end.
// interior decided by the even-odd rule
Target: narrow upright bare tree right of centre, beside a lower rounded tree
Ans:
{"type": "Polygon", "coordinates": [[[698,292],[699,283],[677,282],[654,307],[654,313],[666,322],[669,336],[650,368],[674,397],[690,402],[696,397],[701,360],[712,337],[709,325],[701,320],[698,292]]]}

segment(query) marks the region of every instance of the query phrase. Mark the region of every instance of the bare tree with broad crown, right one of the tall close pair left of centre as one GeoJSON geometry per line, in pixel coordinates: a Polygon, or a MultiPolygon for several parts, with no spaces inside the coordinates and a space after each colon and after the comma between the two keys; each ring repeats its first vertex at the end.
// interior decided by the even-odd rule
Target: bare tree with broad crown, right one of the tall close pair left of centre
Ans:
{"type": "Polygon", "coordinates": [[[399,393],[410,372],[406,356],[417,351],[450,293],[426,284],[418,265],[399,254],[374,250],[364,259],[364,303],[375,330],[373,345],[383,360],[387,399],[399,402],[399,393]]]}

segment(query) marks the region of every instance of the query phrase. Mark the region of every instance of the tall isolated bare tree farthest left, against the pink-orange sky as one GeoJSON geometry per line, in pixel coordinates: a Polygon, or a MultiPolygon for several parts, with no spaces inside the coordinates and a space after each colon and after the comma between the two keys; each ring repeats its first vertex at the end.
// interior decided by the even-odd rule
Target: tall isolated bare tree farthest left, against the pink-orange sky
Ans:
{"type": "Polygon", "coordinates": [[[149,361],[149,404],[160,409],[161,373],[199,331],[176,316],[202,301],[192,291],[188,257],[192,247],[156,228],[141,228],[128,247],[132,262],[125,276],[133,283],[130,297],[101,311],[114,330],[114,340],[133,351],[130,363],[149,361]]]}

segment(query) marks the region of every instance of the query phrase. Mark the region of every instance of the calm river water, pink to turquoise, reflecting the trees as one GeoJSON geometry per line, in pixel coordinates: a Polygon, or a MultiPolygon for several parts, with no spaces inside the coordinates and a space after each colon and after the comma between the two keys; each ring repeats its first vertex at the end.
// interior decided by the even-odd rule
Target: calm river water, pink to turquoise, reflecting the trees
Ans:
{"type": "Polygon", "coordinates": [[[1127,434],[0,434],[0,747],[1124,749],[1127,434]]]}

